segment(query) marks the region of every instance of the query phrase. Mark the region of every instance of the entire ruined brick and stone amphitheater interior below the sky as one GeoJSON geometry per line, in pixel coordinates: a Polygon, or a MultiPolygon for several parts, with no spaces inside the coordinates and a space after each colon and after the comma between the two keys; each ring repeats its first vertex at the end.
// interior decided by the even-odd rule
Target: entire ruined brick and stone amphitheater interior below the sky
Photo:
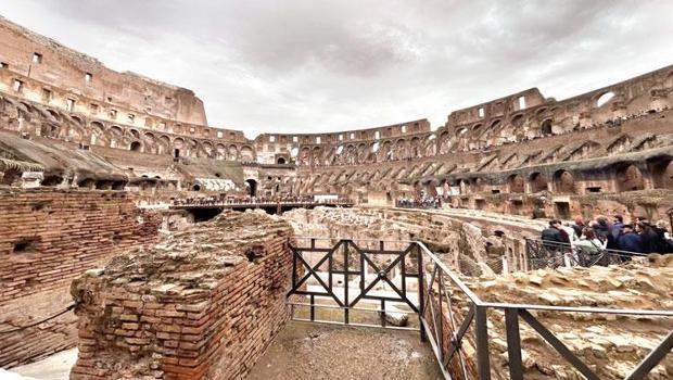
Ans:
{"type": "Polygon", "coordinates": [[[0,377],[673,378],[672,255],[537,240],[670,231],[673,65],[249,139],[4,18],[0,62],[0,377]]]}

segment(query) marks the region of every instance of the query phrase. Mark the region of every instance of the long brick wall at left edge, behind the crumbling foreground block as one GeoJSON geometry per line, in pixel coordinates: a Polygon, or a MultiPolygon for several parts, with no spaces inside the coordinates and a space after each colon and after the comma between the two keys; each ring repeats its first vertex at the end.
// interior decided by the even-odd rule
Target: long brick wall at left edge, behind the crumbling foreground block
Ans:
{"type": "MultiPolygon", "coordinates": [[[[0,331],[64,309],[69,281],[129,246],[153,241],[161,218],[125,192],[0,189],[0,331]]],[[[75,345],[75,316],[0,334],[9,368],[75,345]]]]}

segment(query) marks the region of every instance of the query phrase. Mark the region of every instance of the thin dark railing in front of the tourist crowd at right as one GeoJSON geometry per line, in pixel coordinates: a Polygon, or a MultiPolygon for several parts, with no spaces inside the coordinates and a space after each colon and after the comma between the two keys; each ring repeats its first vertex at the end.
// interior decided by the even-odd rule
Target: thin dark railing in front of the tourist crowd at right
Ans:
{"type": "Polygon", "coordinates": [[[607,250],[600,246],[577,246],[568,243],[525,239],[528,269],[558,268],[561,266],[619,265],[644,258],[644,253],[607,250]]]}

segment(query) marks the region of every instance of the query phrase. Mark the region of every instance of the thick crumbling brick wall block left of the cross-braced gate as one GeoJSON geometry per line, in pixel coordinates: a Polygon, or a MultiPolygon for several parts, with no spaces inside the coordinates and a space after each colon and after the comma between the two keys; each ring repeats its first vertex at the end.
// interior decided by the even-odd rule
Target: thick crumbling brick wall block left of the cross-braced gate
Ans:
{"type": "Polygon", "coordinates": [[[71,379],[240,379],[289,318],[292,228],[226,212],[73,282],[71,379]]]}

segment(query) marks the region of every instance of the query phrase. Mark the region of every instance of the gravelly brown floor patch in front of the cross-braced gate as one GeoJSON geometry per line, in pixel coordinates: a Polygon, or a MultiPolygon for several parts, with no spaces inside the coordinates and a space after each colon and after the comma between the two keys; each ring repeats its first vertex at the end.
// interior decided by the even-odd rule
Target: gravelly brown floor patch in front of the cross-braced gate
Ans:
{"type": "Polygon", "coordinates": [[[288,322],[250,372],[269,379],[442,379],[416,331],[288,322]]]}

